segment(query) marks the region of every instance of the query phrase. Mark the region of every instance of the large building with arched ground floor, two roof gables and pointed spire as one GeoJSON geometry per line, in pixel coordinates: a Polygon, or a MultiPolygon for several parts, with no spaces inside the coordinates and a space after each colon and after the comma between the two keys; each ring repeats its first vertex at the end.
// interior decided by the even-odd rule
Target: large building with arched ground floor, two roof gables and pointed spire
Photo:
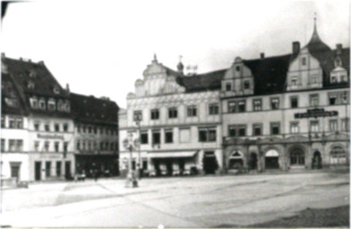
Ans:
{"type": "Polygon", "coordinates": [[[318,35],[292,53],[235,58],[221,81],[227,169],[348,165],[349,48],[318,35]]]}

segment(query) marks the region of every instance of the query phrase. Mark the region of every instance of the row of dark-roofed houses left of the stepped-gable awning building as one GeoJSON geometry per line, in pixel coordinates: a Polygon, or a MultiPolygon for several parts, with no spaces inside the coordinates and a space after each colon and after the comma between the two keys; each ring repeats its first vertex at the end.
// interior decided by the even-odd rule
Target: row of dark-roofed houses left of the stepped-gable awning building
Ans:
{"type": "Polygon", "coordinates": [[[4,54],[1,62],[2,179],[119,173],[115,102],[64,89],[43,62],[4,54]]]}

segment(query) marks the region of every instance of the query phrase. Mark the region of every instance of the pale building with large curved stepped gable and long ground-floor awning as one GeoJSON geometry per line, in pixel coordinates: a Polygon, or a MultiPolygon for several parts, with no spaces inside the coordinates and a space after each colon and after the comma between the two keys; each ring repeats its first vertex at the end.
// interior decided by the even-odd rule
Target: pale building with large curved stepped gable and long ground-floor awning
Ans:
{"type": "Polygon", "coordinates": [[[156,56],[135,81],[120,113],[120,169],[127,171],[130,152],[123,141],[138,139],[133,168],[144,174],[214,174],[223,167],[220,79],[223,71],[185,77],[158,63],[156,56]],[[125,119],[125,120],[124,120],[125,119]]]}

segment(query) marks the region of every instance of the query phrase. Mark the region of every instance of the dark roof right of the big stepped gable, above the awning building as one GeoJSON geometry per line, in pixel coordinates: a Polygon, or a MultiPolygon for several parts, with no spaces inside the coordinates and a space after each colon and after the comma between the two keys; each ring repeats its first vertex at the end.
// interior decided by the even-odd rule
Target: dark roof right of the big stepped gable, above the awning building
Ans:
{"type": "Polygon", "coordinates": [[[195,92],[202,90],[217,90],[220,89],[221,80],[227,69],[193,76],[178,76],[176,81],[179,85],[184,86],[186,92],[195,92]]]}

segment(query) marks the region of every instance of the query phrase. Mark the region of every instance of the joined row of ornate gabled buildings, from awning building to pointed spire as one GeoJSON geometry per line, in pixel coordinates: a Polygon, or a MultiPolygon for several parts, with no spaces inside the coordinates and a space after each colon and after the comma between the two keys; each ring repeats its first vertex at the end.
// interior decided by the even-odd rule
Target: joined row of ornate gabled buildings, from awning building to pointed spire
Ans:
{"type": "Polygon", "coordinates": [[[168,175],[348,164],[349,48],[330,48],[314,25],[291,50],[190,75],[155,55],[120,111],[121,171],[131,158],[133,168],[168,175]],[[140,139],[132,154],[129,138],[140,139]]]}

